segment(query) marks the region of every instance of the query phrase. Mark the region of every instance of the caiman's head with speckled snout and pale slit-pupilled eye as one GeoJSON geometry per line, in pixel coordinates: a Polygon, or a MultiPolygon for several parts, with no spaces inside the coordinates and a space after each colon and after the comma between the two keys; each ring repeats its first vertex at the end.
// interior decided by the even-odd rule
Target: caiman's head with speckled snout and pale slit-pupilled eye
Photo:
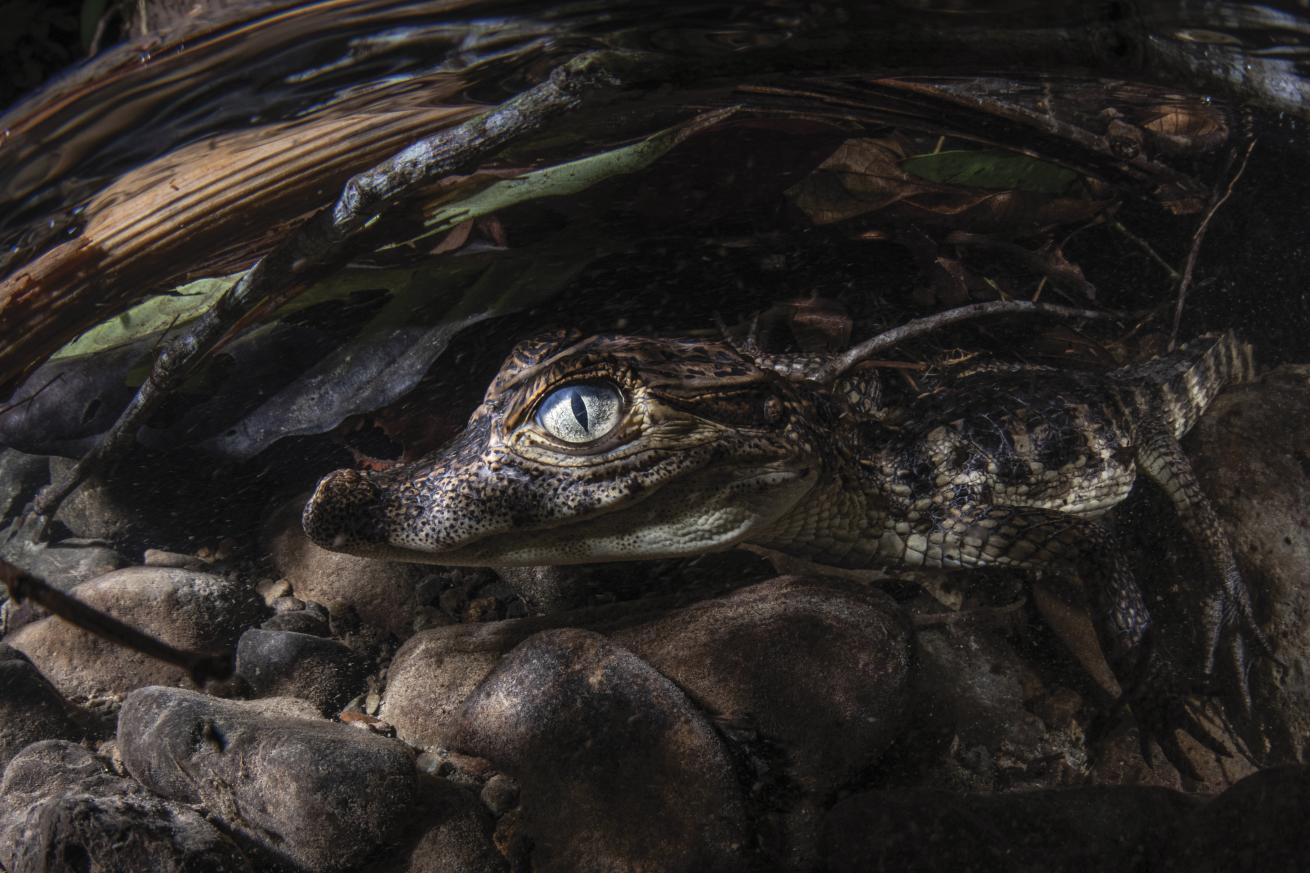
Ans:
{"type": "Polygon", "coordinates": [[[519,345],[465,431],[383,472],[325,476],[324,548],[512,566],[757,541],[823,475],[811,401],[731,346],[553,334],[519,345]]]}

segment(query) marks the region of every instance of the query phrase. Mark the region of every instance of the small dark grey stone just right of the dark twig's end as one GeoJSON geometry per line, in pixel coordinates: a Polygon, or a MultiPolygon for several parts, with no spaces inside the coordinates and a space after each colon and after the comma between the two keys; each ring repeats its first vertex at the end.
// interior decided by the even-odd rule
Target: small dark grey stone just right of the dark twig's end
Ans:
{"type": "Polygon", "coordinates": [[[333,714],[360,691],[369,663],[335,640],[252,628],[237,642],[237,675],[259,697],[300,697],[333,714]]]}

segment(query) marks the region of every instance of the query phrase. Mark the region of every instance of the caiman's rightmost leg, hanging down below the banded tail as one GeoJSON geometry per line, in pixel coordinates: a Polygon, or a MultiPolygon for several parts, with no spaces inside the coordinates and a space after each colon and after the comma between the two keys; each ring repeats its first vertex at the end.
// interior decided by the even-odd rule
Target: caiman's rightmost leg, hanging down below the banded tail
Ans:
{"type": "Polygon", "coordinates": [[[1250,640],[1265,655],[1272,657],[1272,653],[1255,621],[1251,595],[1238,572],[1227,534],[1196,481],[1187,455],[1163,423],[1138,427],[1136,450],[1138,469],[1169,495],[1179,523],[1205,562],[1208,578],[1200,599],[1200,679],[1207,683],[1214,679],[1216,661],[1222,650],[1238,699],[1250,714],[1246,642],[1250,640]]]}

